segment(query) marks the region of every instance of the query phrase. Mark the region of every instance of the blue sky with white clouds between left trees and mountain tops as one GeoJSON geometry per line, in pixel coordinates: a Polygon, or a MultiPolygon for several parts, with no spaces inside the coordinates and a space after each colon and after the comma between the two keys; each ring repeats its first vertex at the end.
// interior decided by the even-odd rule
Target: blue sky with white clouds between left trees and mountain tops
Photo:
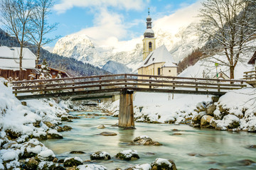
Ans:
{"type": "MultiPolygon", "coordinates": [[[[191,6],[197,1],[57,0],[48,20],[50,23],[59,24],[50,36],[64,37],[72,33],[85,33],[97,40],[109,37],[132,40],[132,38],[143,35],[148,8],[150,8],[153,21],[156,21],[191,6]]],[[[53,47],[55,42],[48,46],[53,47]]]]}

